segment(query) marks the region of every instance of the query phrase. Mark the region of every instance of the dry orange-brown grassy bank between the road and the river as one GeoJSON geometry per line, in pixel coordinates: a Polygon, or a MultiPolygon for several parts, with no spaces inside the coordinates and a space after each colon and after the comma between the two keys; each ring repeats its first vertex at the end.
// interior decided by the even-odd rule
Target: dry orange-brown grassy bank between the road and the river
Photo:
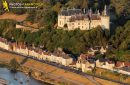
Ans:
{"type": "MultiPolygon", "coordinates": [[[[0,60],[3,60],[3,62],[7,61],[9,62],[11,59],[16,58],[18,62],[22,62],[24,57],[1,52],[0,51],[0,60]]],[[[92,81],[88,80],[84,76],[75,74],[73,72],[69,72],[45,63],[41,63],[32,59],[28,59],[23,64],[23,71],[25,73],[28,73],[28,71],[32,72],[32,76],[38,80],[42,81],[49,81],[52,82],[55,85],[61,85],[61,84],[69,84],[69,85],[95,85],[92,81]]],[[[120,85],[111,81],[95,78],[97,82],[99,82],[102,85],[120,85]]]]}

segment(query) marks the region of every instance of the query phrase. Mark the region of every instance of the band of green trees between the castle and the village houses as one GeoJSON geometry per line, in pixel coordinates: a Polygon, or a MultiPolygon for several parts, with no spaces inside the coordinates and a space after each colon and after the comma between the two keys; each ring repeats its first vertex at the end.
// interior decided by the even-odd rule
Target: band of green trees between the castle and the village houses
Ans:
{"type": "Polygon", "coordinates": [[[37,47],[43,46],[43,49],[48,49],[49,51],[54,51],[60,47],[73,54],[86,52],[86,49],[90,46],[105,46],[109,39],[109,31],[102,30],[100,27],[89,31],[81,31],[79,29],[65,31],[48,27],[32,33],[12,28],[3,30],[1,33],[3,37],[9,40],[26,42],[28,45],[34,44],[37,47]],[[4,32],[6,34],[3,34],[4,32]]]}

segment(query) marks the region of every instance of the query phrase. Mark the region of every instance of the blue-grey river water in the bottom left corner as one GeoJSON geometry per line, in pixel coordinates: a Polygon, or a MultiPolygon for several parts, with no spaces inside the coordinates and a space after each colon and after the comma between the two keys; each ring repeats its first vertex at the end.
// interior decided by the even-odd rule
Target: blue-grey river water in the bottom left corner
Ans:
{"type": "Polygon", "coordinates": [[[7,80],[9,82],[8,85],[47,85],[31,77],[29,78],[29,81],[27,81],[27,76],[24,73],[17,72],[14,74],[7,68],[0,68],[0,78],[7,80]]]}

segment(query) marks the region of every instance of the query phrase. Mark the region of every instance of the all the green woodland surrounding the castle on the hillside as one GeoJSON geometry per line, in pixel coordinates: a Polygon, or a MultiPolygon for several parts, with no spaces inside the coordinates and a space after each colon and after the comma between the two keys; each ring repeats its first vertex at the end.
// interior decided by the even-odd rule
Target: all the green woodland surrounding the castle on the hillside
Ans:
{"type": "MultiPolygon", "coordinates": [[[[42,0],[22,0],[11,2],[43,2],[42,0]]],[[[34,44],[37,47],[43,47],[49,51],[54,51],[57,48],[80,54],[86,53],[87,48],[92,46],[112,45],[113,49],[108,51],[107,56],[115,60],[128,61],[130,50],[130,1],[129,0],[50,0],[43,2],[38,9],[11,9],[10,12],[16,14],[28,13],[26,21],[39,23],[41,28],[37,32],[22,31],[15,29],[16,21],[1,20],[0,21],[0,36],[8,40],[25,42],[27,45],[34,44]],[[104,5],[109,6],[110,16],[115,16],[111,20],[111,30],[102,30],[101,27],[96,27],[89,31],[66,31],[54,29],[57,24],[57,14],[61,8],[91,8],[93,12],[97,9],[102,12],[104,5]],[[111,15],[112,14],[112,15],[111,15]],[[112,34],[112,35],[111,35],[112,34]],[[129,51],[128,51],[129,52],[129,51]],[[118,57],[114,57],[118,56],[118,57]]],[[[0,10],[2,13],[2,10],[0,10]]],[[[22,22],[21,22],[22,23],[22,22]]],[[[65,25],[64,27],[67,27],[65,25]]],[[[97,55],[98,57],[104,57],[97,55]]]]}

